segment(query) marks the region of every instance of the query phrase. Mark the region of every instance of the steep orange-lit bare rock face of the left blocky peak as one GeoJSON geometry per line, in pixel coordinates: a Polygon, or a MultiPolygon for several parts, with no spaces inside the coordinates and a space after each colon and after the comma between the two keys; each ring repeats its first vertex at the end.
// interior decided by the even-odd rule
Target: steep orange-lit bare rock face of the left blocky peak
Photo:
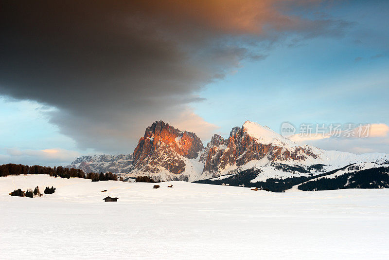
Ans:
{"type": "Polygon", "coordinates": [[[173,174],[185,171],[180,156],[193,159],[203,149],[195,133],[180,131],[162,121],[154,122],[139,139],[133,157],[132,171],[159,173],[165,169],[173,174]]]}

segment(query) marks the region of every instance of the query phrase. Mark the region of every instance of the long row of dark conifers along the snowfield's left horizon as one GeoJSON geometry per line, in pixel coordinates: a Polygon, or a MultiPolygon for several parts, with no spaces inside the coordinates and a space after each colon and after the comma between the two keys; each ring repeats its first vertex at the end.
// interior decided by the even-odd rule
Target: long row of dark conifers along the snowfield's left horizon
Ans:
{"type": "MultiPolygon", "coordinates": [[[[22,164],[3,164],[0,165],[0,177],[8,175],[25,175],[25,174],[47,174],[50,177],[61,177],[61,178],[83,178],[92,180],[93,182],[98,181],[117,181],[118,176],[112,172],[106,173],[85,173],[82,169],[67,168],[67,167],[46,167],[46,166],[28,166],[22,164]]],[[[123,178],[120,178],[123,181],[123,178]]]]}

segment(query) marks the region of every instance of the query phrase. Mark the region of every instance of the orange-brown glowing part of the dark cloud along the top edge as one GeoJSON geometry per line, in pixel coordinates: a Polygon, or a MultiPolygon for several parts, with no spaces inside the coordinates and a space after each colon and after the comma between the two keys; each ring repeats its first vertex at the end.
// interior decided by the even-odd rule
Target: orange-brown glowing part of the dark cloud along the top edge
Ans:
{"type": "MultiPolygon", "coordinates": [[[[197,25],[231,34],[260,34],[265,25],[277,30],[292,29],[301,23],[297,16],[282,13],[288,5],[301,6],[319,0],[151,0],[132,1],[135,10],[163,18],[165,24],[180,27],[197,25]],[[281,8],[282,7],[282,8],[281,8]]],[[[305,20],[307,21],[307,20],[305,20]]],[[[306,26],[306,24],[305,24],[306,26]]],[[[184,28],[183,28],[184,29],[184,28]]],[[[187,28],[189,29],[189,28],[187,28]]]]}

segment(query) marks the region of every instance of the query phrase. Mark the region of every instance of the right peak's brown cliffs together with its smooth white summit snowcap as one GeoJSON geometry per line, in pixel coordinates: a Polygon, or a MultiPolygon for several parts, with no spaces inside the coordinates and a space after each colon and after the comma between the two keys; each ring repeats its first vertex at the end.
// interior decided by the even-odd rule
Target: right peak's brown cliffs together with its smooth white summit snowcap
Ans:
{"type": "Polygon", "coordinates": [[[200,161],[204,163],[204,172],[222,172],[227,166],[243,166],[254,160],[304,161],[318,158],[308,148],[284,138],[268,127],[246,121],[242,128],[234,127],[227,139],[215,134],[207,144],[200,161]]]}

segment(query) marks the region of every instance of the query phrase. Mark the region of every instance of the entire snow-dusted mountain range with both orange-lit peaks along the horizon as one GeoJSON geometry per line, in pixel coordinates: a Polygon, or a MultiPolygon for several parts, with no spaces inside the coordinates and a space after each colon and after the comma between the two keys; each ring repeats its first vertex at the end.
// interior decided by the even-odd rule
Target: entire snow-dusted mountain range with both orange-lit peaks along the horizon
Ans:
{"type": "Polygon", "coordinates": [[[389,154],[356,155],[298,145],[268,127],[250,121],[242,127],[232,128],[228,138],[214,134],[204,148],[195,133],[156,121],[146,128],[133,155],[84,156],[68,167],[86,172],[111,171],[124,178],[145,175],[161,181],[190,182],[217,178],[227,181],[242,172],[255,172],[251,180],[255,183],[269,178],[312,178],[351,164],[371,162],[387,165],[389,154]]]}

